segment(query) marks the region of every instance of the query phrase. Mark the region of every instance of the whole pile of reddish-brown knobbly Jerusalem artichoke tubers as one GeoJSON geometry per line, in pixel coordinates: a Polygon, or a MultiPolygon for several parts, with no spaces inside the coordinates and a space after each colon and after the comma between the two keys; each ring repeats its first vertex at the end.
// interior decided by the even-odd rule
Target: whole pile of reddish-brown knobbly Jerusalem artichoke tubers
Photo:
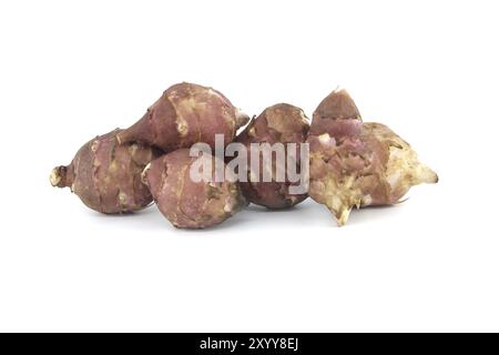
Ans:
{"type": "Polygon", "coordinates": [[[54,168],[50,175],[52,186],[70,187],[94,211],[133,213],[154,202],[180,229],[213,226],[248,203],[287,209],[308,196],[326,205],[343,225],[354,207],[393,205],[411,186],[437,181],[437,174],[389,128],[363,122],[345,90],[327,95],[312,122],[302,109],[287,103],[249,120],[218,91],[186,82],[169,88],[129,129],[85,143],[69,165],[54,168]],[[264,159],[256,170],[246,168],[218,179],[213,166],[228,172],[237,154],[191,152],[197,144],[215,149],[216,136],[223,138],[224,148],[230,143],[245,148],[248,162],[264,154],[253,151],[253,144],[282,143],[286,169],[306,171],[308,189],[294,193],[295,182],[275,179],[283,168],[264,159]],[[298,159],[304,146],[306,161],[298,159]],[[203,171],[206,179],[192,179],[190,172],[198,166],[212,166],[203,171]],[[271,172],[268,180],[262,179],[265,171],[271,172]]]}

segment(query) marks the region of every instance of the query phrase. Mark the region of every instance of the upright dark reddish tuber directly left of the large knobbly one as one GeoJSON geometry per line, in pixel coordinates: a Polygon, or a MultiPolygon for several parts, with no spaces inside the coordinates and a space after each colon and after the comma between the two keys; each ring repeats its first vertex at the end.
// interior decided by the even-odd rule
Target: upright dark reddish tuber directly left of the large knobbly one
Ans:
{"type": "MultiPolygon", "coordinates": [[[[302,109],[287,103],[279,103],[265,109],[256,119],[253,119],[237,136],[237,142],[247,148],[248,161],[252,160],[251,143],[296,143],[295,156],[297,156],[296,164],[299,170],[299,143],[306,141],[308,129],[308,119],[302,109]]],[[[263,161],[262,155],[259,156],[261,162],[263,161]]],[[[276,164],[274,160],[273,162],[272,169],[275,172],[276,164]]],[[[306,193],[291,194],[291,182],[287,179],[285,182],[276,182],[275,173],[273,173],[272,182],[263,182],[262,171],[259,175],[258,182],[251,182],[248,169],[248,181],[240,183],[244,196],[254,204],[268,209],[286,209],[301,203],[308,196],[306,193]]]]}

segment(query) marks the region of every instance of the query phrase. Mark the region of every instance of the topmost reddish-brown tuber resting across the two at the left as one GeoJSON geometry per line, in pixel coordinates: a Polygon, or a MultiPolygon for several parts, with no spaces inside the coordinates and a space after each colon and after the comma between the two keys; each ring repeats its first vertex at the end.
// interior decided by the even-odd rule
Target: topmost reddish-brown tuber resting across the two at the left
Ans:
{"type": "Polygon", "coordinates": [[[183,82],[169,88],[144,116],[118,134],[121,143],[144,142],[172,152],[197,142],[215,146],[215,134],[231,143],[248,116],[218,91],[183,82]]]}

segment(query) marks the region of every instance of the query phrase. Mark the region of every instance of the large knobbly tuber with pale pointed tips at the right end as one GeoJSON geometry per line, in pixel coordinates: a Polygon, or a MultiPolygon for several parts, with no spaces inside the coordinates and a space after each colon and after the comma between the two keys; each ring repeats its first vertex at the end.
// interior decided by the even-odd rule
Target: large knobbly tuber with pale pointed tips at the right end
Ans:
{"type": "Polygon", "coordinates": [[[325,204],[338,225],[354,206],[390,205],[437,174],[418,161],[410,145],[380,123],[363,123],[345,90],[335,90],[313,115],[309,195],[325,204]]]}

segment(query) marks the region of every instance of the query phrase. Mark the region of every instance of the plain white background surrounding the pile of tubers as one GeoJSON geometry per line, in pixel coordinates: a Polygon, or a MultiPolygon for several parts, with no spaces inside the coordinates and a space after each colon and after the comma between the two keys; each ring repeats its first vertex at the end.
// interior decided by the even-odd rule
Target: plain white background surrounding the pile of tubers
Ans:
{"type": "Polygon", "coordinates": [[[0,331],[499,331],[497,1],[2,1],[0,331]],[[49,173],[169,85],[308,115],[338,84],[440,182],[338,229],[312,200],[208,231],[49,173]]]}

